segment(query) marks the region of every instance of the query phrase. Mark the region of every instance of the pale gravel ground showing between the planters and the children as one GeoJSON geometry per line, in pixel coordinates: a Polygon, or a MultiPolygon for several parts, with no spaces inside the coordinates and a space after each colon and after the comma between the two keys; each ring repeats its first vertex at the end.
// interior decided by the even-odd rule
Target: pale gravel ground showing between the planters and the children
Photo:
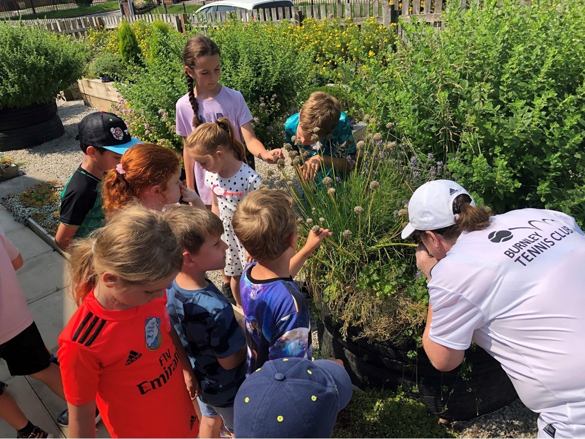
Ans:
{"type": "MultiPolygon", "coordinates": [[[[59,101],[57,104],[59,116],[65,127],[63,136],[29,150],[0,153],[0,158],[10,157],[16,163],[23,163],[21,168],[25,172],[41,171],[66,182],[81,163],[83,156],[79,148],[79,141],[75,140],[77,123],[94,109],[86,107],[83,101],[59,101]]],[[[287,169],[291,171],[290,167],[287,169]]],[[[265,184],[269,186],[277,184],[276,181],[280,174],[274,165],[257,160],[256,171],[263,177],[265,184]]],[[[209,272],[208,275],[215,285],[221,285],[222,279],[219,271],[209,272]]],[[[315,339],[314,334],[314,343],[315,339]]],[[[537,431],[536,418],[536,414],[528,410],[517,399],[495,413],[471,421],[455,422],[452,423],[451,427],[461,438],[534,438],[537,431]]]]}

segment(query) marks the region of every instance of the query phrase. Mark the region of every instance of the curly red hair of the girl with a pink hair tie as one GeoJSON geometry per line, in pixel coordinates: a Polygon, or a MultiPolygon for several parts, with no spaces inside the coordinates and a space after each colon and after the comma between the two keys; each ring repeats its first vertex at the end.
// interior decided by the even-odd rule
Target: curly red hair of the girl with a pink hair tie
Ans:
{"type": "Polygon", "coordinates": [[[140,202],[140,191],[148,186],[160,185],[164,193],[181,158],[168,148],[144,143],[129,148],[120,164],[122,170],[109,170],[102,181],[102,207],[106,217],[129,203],[140,202]]]}

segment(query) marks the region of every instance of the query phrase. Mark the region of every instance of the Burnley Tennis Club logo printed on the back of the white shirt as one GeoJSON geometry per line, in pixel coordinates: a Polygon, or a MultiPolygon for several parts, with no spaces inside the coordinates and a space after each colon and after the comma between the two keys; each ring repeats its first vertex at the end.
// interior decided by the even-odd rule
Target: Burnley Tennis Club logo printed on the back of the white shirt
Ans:
{"type": "Polygon", "coordinates": [[[514,237],[511,230],[538,230],[512,244],[504,251],[504,254],[511,260],[526,267],[546,250],[556,246],[564,238],[574,233],[574,230],[570,227],[561,226],[556,228],[556,224],[554,223],[556,221],[552,219],[532,220],[528,222],[528,226],[526,227],[511,227],[508,230],[493,232],[490,234],[490,237],[492,237],[490,240],[492,242],[498,242],[494,240],[494,236],[504,237],[499,240],[501,242],[511,240],[514,237]],[[551,231],[550,229],[553,228],[554,230],[551,231]]]}

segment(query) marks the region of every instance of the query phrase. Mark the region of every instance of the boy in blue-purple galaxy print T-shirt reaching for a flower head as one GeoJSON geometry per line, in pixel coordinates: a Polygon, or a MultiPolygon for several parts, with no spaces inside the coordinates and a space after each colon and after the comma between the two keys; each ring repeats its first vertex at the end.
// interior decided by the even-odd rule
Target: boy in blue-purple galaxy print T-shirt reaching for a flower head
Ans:
{"type": "Polygon", "coordinates": [[[298,230],[294,202],[284,191],[258,189],[246,196],[232,219],[233,230],[256,262],[240,279],[245,316],[247,375],[277,358],[311,359],[307,299],[292,279],[329,230],[311,231],[295,254],[298,230]]]}

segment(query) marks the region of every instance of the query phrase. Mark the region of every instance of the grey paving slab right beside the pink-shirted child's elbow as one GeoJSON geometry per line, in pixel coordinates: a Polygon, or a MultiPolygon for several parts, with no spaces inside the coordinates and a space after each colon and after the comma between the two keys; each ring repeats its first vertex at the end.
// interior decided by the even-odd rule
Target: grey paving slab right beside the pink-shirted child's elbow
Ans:
{"type": "Polygon", "coordinates": [[[16,274],[26,294],[26,302],[31,303],[66,288],[67,261],[55,251],[43,253],[27,260],[16,274]]]}

